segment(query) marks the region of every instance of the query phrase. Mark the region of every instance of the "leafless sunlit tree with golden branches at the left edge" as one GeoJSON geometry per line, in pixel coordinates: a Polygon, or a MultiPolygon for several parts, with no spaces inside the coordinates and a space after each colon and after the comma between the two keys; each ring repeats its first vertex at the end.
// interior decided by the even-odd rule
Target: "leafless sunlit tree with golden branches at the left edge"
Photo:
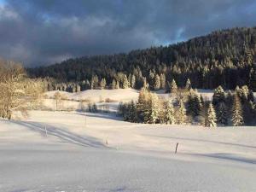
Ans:
{"type": "Polygon", "coordinates": [[[28,79],[25,69],[12,61],[0,61],[0,113],[12,119],[14,111],[27,115],[40,101],[43,86],[40,81],[28,79]]]}

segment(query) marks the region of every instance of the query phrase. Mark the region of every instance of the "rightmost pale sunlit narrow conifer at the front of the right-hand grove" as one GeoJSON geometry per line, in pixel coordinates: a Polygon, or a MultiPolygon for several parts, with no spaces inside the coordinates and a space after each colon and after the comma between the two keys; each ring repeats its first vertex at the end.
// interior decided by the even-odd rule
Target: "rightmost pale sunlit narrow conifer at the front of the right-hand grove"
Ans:
{"type": "Polygon", "coordinates": [[[235,94],[234,101],[233,101],[232,122],[234,126],[243,125],[241,101],[239,99],[239,96],[237,96],[237,94],[235,94]]]}

